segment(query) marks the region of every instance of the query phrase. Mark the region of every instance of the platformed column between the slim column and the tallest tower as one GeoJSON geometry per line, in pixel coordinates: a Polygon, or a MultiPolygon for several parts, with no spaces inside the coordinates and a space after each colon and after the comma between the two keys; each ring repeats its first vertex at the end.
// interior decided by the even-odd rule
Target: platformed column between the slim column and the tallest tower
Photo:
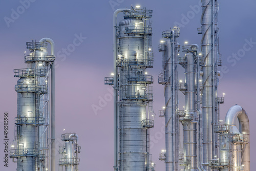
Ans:
{"type": "MultiPolygon", "coordinates": [[[[197,67],[199,55],[197,47],[182,46],[184,57],[179,57],[180,65],[185,68],[185,82],[179,83],[179,90],[185,95],[184,113],[180,114],[180,122],[183,125],[184,170],[198,170],[198,111],[197,109],[197,67]]],[[[199,70],[200,71],[200,70],[199,70]]]]}

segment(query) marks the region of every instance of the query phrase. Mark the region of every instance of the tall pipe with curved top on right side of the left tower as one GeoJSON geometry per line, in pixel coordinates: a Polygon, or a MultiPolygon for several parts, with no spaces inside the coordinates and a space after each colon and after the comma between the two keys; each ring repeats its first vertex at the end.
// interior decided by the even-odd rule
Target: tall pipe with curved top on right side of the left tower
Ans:
{"type": "MultiPolygon", "coordinates": [[[[51,44],[51,55],[54,55],[54,42],[50,38],[42,38],[40,42],[47,41],[51,44]]],[[[51,171],[55,171],[55,63],[51,68],[51,171]]]]}

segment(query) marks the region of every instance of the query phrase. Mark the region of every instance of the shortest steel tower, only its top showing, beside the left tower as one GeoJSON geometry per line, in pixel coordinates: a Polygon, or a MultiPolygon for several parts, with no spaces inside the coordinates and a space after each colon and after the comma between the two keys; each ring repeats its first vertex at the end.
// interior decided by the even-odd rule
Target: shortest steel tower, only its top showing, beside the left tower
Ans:
{"type": "Polygon", "coordinates": [[[75,133],[66,133],[61,135],[63,146],[59,147],[59,167],[65,171],[78,170],[78,164],[80,159],[78,153],[80,153],[81,147],[78,146],[78,135],[75,133]]]}

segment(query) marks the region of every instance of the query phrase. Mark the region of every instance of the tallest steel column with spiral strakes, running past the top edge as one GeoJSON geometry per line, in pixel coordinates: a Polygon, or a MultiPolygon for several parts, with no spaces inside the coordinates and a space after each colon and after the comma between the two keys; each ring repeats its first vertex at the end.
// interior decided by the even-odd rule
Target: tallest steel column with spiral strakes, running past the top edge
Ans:
{"type": "MultiPolygon", "coordinates": [[[[218,66],[218,1],[203,0],[201,17],[203,59],[203,99],[202,99],[202,131],[203,131],[203,163],[209,162],[218,154],[217,134],[214,125],[218,123],[217,99],[217,66],[218,66]]],[[[211,170],[204,166],[205,170],[211,170]]]]}

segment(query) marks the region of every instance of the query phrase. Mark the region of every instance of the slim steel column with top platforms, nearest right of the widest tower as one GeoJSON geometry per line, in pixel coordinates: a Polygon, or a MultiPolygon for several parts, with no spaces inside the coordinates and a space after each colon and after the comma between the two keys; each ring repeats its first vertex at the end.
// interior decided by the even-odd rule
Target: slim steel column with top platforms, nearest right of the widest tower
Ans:
{"type": "Polygon", "coordinates": [[[162,32],[165,41],[161,41],[159,51],[163,52],[163,71],[159,74],[158,83],[164,84],[165,106],[165,170],[179,170],[179,116],[178,116],[178,42],[180,29],[162,32]]]}

